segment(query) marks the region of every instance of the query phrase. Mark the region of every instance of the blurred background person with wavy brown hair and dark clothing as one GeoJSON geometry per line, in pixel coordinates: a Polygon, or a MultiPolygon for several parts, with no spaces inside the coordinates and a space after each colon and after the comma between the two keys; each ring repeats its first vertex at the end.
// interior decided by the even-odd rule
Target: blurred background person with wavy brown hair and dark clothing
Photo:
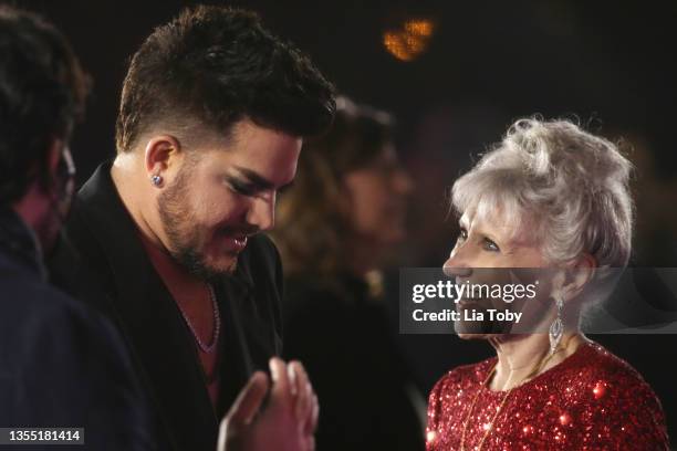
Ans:
{"type": "Polygon", "coordinates": [[[413,185],[384,112],[337,101],[279,203],[284,354],[302,359],[321,405],[317,449],[424,448],[420,395],[390,339],[379,270],[406,238],[413,185]]]}

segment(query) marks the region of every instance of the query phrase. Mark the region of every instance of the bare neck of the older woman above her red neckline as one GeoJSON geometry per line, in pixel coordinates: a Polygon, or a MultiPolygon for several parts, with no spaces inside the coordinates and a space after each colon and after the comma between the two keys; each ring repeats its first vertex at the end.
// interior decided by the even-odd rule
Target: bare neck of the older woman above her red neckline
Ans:
{"type": "Polygon", "coordinates": [[[509,390],[562,363],[585,342],[577,331],[565,332],[558,350],[550,355],[548,334],[490,338],[496,348],[498,363],[489,388],[494,391],[509,390]]]}

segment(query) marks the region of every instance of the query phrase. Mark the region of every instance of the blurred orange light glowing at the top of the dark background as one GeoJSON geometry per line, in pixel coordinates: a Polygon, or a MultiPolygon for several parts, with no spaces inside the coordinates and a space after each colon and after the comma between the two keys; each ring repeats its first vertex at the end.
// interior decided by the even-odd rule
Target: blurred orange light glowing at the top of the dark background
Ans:
{"type": "Polygon", "coordinates": [[[383,44],[393,56],[409,62],[426,51],[434,31],[434,23],[427,19],[407,20],[400,30],[383,33],[383,44]]]}

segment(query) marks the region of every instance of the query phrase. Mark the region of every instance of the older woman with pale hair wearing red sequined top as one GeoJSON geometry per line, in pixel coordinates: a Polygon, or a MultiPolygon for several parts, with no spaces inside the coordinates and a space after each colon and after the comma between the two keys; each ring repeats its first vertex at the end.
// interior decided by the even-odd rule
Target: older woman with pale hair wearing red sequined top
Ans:
{"type": "MultiPolygon", "coordinates": [[[[544,305],[535,329],[550,334],[457,325],[461,338],[487,339],[497,357],[436,384],[428,450],[668,448],[652,388],[579,328],[586,286],[628,261],[629,170],[612,143],[570,122],[522,119],[456,181],[460,234],[447,273],[464,281],[483,273],[477,269],[574,275],[553,276],[550,302],[533,304],[544,305]]],[[[472,298],[458,304],[459,311],[478,306],[472,298]]]]}

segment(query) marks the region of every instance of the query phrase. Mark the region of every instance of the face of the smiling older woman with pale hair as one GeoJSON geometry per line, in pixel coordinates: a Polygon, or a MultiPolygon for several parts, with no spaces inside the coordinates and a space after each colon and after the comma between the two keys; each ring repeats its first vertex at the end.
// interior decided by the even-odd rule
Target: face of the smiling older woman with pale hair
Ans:
{"type": "MultiPolygon", "coordinates": [[[[498,218],[498,217],[497,217],[498,218]]],[[[512,226],[500,220],[485,220],[466,212],[460,221],[460,233],[444,269],[457,284],[475,285],[529,285],[535,284],[537,295],[506,302],[501,296],[476,294],[464,296],[457,304],[461,318],[471,317],[472,312],[483,313],[483,321],[457,321],[456,332],[461,338],[488,338],[509,333],[515,325],[490,321],[488,310],[523,312],[522,329],[527,325],[541,323],[552,307],[544,302],[550,295],[548,261],[538,243],[513,237],[512,226]],[[538,281],[538,283],[537,283],[538,281]],[[548,294],[548,295],[545,295],[548,294]],[[466,313],[467,311],[468,313],[466,313]]],[[[531,326],[530,326],[531,327],[531,326]]]]}

